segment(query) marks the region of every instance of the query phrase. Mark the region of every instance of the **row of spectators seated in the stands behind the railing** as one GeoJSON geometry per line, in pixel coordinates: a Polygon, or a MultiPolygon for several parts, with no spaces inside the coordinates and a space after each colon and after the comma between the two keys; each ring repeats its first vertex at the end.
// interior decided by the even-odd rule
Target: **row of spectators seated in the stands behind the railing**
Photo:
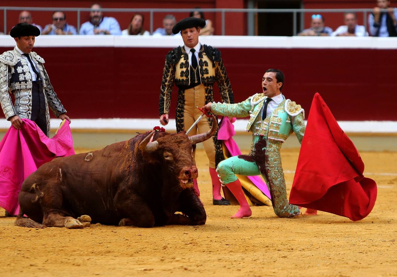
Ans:
{"type": "MultiPolygon", "coordinates": [[[[324,16],[313,14],[311,16],[310,28],[303,30],[298,36],[397,36],[397,9],[390,7],[389,0],[376,0],[377,6],[368,15],[369,34],[366,28],[357,24],[355,12],[346,12],[343,15],[345,25],[339,26],[335,31],[325,26],[324,16]],[[387,10],[382,12],[381,10],[387,10]]],[[[196,7],[191,11],[191,17],[202,18],[206,25],[201,28],[200,35],[213,35],[214,27],[209,19],[204,18],[204,13],[196,7]]],[[[67,24],[64,11],[52,13],[52,23],[42,29],[33,22],[32,14],[29,11],[22,11],[19,14],[19,23],[29,23],[39,28],[41,34],[77,34],[75,27],[67,24]]],[[[143,28],[144,16],[135,14],[131,18],[127,29],[121,31],[120,25],[114,17],[103,16],[102,6],[92,4],[90,21],[83,23],[78,34],[113,34],[113,35],[150,35],[149,31],[143,28]]],[[[168,14],[163,19],[163,26],[153,32],[153,36],[173,36],[172,28],[176,23],[175,16],[168,14]]]]}

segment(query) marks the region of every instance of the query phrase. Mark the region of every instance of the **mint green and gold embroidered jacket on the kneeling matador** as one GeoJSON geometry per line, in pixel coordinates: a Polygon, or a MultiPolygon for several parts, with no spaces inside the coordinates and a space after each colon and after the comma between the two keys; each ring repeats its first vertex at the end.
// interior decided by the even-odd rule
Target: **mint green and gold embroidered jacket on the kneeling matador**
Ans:
{"type": "Polygon", "coordinates": [[[228,117],[250,117],[245,130],[254,134],[253,145],[259,136],[269,140],[284,142],[292,132],[295,132],[299,143],[304,135],[304,110],[301,105],[284,99],[271,115],[262,120],[262,107],[266,96],[255,94],[243,102],[236,104],[213,103],[211,110],[217,115],[228,117]]]}

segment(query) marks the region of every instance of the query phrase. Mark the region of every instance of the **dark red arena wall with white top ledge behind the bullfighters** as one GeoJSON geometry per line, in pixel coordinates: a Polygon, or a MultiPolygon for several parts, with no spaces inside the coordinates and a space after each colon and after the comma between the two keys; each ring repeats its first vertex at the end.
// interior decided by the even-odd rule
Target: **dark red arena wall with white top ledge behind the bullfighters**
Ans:
{"type": "MultiPolygon", "coordinates": [[[[306,118],[312,97],[319,92],[337,120],[397,120],[397,114],[393,113],[397,100],[397,51],[382,49],[385,40],[362,38],[355,45],[363,42],[375,45],[378,42],[381,46],[350,48],[355,40],[345,38],[332,40],[341,42],[341,48],[327,48],[315,46],[320,42],[311,38],[285,37],[280,38],[280,42],[272,43],[270,38],[262,37],[259,41],[259,38],[247,41],[247,45],[254,45],[256,41],[255,48],[247,48],[247,45],[230,48],[227,47],[228,38],[230,41],[236,39],[211,37],[206,43],[222,51],[235,101],[261,92],[264,71],[276,67],[285,73],[283,94],[303,106],[306,118]],[[291,39],[301,46],[286,48],[291,39]],[[219,45],[215,44],[216,41],[219,45]],[[346,47],[343,48],[343,45],[346,47]]],[[[83,38],[77,36],[73,39],[80,41],[83,38]]],[[[129,44],[133,41],[140,43],[136,39],[129,40],[131,43],[118,39],[116,47],[48,47],[43,46],[42,42],[51,39],[43,37],[42,45],[35,47],[35,51],[46,60],[45,67],[51,83],[71,117],[158,117],[165,55],[172,49],[171,45],[179,44],[179,40],[167,40],[167,46],[162,47],[132,47],[129,44]]],[[[147,38],[147,41],[153,39],[147,38]]],[[[320,41],[331,45],[330,39],[334,38],[320,41]]],[[[11,38],[4,37],[4,40],[11,38]]],[[[51,41],[52,44],[65,44],[65,38],[51,41]]],[[[390,44],[397,45],[394,40],[390,44]]],[[[158,42],[151,42],[150,45],[158,45],[158,42]]],[[[12,42],[7,47],[1,47],[0,52],[11,48],[12,42]]],[[[174,117],[176,98],[174,89],[171,117],[174,117]]],[[[215,100],[220,100],[217,88],[215,100]]]]}

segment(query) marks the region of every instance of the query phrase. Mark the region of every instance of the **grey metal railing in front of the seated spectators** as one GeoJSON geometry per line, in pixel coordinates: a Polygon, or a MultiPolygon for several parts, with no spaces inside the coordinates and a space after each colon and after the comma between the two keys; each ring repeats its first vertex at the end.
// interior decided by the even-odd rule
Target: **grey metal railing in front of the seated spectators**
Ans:
{"type": "MultiPolygon", "coordinates": [[[[7,32],[7,11],[8,10],[27,10],[27,11],[75,11],[77,13],[77,31],[81,25],[81,12],[82,11],[91,11],[91,8],[44,8],[44,7],[0,7],[0,11],[4,12],[4,33],[7,32]]],[[[150,33],[153,33],[153,18],[154,13],[189,13],[193,9],[154,9],[154,8],[103,8],[104,12],[129,12],[129,13],[150,13],[150,33]]],[[[302,31],[304,26],[304,13],[345,13],[345,12],[355,12],[355,13],[363,13],[363,22],[364,27],[367,29],[367,19],[368,13],[372,12],[373,9],[194,9],[197,11],[203,12],[215,12],[221,13],[221,22],[222,22],[222,35],[225,35],[225,16],[226,13],[247,13],[247,34],[250,36],[254,35],[255,25],[254,25],[254,13],[292,13],[293,14],[293,26],[292,33],[295,36],[297,34],[297,15],[300,14],[300,27],[299,29],[302,31]]],[[[382,10],[383,11],[383,10],[382,10]]],[[[384,10],[387,11],[387,10],[384,10]]]]}

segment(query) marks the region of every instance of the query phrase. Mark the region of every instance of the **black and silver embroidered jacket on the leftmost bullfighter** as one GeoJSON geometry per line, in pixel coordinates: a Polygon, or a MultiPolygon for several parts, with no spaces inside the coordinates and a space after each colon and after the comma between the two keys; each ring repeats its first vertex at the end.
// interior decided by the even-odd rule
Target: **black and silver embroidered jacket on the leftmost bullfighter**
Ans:
{"type": "MultiPolygon", "coordinates": [[[[54,88],[52,88],[47,71],[44,68],[44,59],[37,55],[36,52],[31,52],[30,57],[36,63],[40,79],[42,80],[44,98],[46,99],[48,136],[50,131],[48,105],[56,117],[66,113],[66,110],[54,92],[54,88]]],[[[0,103],[7,120],[10,120],[10,117],[14,115],[31,119],[32,76],[27,63],[15,48],[0,55],[0,103]],[[15,97],[14,105],[12,104],[10,93],[15,97]]]]}

